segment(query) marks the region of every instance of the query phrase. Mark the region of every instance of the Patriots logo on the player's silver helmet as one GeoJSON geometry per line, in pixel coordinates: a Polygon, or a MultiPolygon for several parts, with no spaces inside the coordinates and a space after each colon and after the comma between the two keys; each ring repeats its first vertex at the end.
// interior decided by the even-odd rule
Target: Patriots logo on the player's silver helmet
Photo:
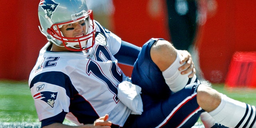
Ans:
{"type": "Polygon", "coordinates": [[[41,0],[39,3],[39,6],[41,6],[44,9],[45,14],[51,18],[52,17],[52,12],[55,11],[56,7],[59,4],[54,2],[54,0],[41,0]]]}

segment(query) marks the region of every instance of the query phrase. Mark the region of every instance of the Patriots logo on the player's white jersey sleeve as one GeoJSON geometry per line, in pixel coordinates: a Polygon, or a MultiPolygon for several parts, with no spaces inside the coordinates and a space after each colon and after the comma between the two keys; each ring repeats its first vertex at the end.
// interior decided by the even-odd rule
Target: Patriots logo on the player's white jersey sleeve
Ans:
{"type": "Polygon", "coordinates": [[[58,92],[39,92],[34,95],[34,99],[40,99],[49,104],[52,108],[54,107],[54,100],[56,100],[58,92]]]}

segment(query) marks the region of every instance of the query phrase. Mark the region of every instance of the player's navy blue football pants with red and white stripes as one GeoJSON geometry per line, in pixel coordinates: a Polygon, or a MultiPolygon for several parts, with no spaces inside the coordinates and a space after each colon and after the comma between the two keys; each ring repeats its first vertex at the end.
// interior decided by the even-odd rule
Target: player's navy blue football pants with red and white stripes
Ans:
{"type": "Polygon", "coordinates": [[[130,115],[124,128],[190,128],[204,112],[197,104],[197,83],[172,93],[162,72],[150,57],[150,48],[158,39],[144,46],[134,64],[132,82],[142,88],[142,115],[130,115]]]}

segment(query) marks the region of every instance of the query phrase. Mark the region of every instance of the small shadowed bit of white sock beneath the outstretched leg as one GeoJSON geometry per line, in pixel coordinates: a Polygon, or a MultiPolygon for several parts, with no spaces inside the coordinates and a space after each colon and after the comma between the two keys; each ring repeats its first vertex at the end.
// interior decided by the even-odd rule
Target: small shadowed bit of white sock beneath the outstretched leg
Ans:
{"type": "Polygon", "coordinates": [[[212,116],[208,112],[203,112],[200,115],[200,119],[202,123],[204,124],[204,128],[211,128],[214,126],[216,120],[212,118],[212,116]]]}

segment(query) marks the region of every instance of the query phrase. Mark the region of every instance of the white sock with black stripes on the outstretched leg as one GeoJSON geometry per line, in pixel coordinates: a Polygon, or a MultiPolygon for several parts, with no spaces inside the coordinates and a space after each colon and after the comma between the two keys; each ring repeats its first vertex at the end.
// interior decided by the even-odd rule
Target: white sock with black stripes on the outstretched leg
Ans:
{"type": "Polygon", "coordinates": [[[220,105],[209,112],[216,122],[231,128],[256,128],[256,109],[222,94],[220,105]]]}

